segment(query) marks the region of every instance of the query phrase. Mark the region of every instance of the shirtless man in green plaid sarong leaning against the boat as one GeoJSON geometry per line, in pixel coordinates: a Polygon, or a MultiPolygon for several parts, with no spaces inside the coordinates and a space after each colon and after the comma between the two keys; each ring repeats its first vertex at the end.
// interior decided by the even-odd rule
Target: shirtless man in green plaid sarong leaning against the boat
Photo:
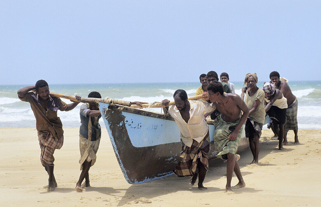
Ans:
{"type": "Polygon", "coordinates": [[[214,144],[220,150],[220,153],[216,156],[221,157],[223,161],[227,160],[225,192],[233,192],[232,188],[245,186],[236,159],[236,152],[243,130],[242,126],[247,120],[249,110],[239,95],[234,93],[224,94],[223,86],[218,81],[213,81],[208,85],[207,93],[210,101],[214,103],[216,108],[221,112],[213,122],[216,126],[214,131],[214,144]],[[242,116],[240,115],[241,111],[243,112],[242,116]],[[239,179],[239,183],[231,187],[233,171],[239,179]]]}

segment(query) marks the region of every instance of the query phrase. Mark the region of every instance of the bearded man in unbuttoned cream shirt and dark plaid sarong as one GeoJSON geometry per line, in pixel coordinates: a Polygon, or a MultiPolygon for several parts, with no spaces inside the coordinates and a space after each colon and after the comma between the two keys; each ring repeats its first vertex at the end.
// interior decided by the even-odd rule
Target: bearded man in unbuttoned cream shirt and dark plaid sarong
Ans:
{"type": "Polygon", "coordinates": [[[173,172],[178,177],[192,176],[192,186],[198,177],[198,189],[206,190],[203,181],[208,171],[210,136],[204,113],[213,112],[215,106],[202,100],[188,101],[186,91],[181,89],[175,91],[173,97],[175,105],[168,107],[169,100],[162,101],[164,112],[168,112],[175,119],[181,132],[181,161],[173,172]]]}

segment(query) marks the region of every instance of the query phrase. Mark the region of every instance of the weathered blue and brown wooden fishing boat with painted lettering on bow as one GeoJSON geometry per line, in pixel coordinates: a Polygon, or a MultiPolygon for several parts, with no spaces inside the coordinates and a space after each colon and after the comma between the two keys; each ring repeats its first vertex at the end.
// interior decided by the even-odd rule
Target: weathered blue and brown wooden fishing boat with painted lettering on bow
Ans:
{"type": "MultiPolygon", "coordinates": [[[[108,103],[99,103],[99,109],[128,183],[144,183],[173,174],[182,144],[178,126],[170,115],[108,103]]],[[[213,120],[207,120],[207,124],[211,139],[209,159],[212,160],[219,150],[213,143],[213,120]]],[[[248,146],[242,130],[238,150],[248,146]]]]}

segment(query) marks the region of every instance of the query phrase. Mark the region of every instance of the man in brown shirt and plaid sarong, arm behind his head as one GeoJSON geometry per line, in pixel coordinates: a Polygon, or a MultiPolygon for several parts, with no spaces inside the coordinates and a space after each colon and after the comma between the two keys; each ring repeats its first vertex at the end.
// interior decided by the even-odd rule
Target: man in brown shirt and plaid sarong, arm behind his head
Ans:
{"type": "MultiPolygon", "coordinates": [[[[57,187],[54,176],[54,152],[60,149],[64,143],[64,130],[62,122],[57,116],[57,111],[70,111],[79,102],[66,104],[58,97],[51,97],[48,83],[38,80],[35,86],[28,86],[18,90],[20,100],[29,102],[36,118],[39,145],[41,149],[40,161],[48,173],[47,191],[53,191],[57,187]],[[30,92],[35,90],[36,93],[30,92]]],[[[80,96],[75,96],[80,101],[80,96]]]]}

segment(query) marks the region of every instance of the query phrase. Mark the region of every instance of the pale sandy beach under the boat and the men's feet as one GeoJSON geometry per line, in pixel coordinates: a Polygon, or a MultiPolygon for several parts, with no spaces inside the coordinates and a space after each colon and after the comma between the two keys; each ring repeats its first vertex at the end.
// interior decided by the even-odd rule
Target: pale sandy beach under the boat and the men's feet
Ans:
{"type": "MultiPolygon", "coordinates": [[[[259,165],[249,165],[252,154],[240,152],[239,165],[246,187],[235,194],[224,192],[226,163],[209,162],[204,180],[207,191],[189,186],[189,178],[175,175],[148,183],[128,184],[120,170],[106,130],[102,130],[97,161],[91,167],[91,187],[74,190],[80,175],[79,128],[64,129],[64,145],[55,152],[58,187],[47,192],[48,175],[40,163],[35,128],[0,128],[0,206],[321,206],[321,130],[299,130],[299,145],[293,131],[286,151],[276,149],[271,130],[264,129],[259,165]],[[267,141],[266,141],[267,140],[267,141]]],[[[237,184],[234,176],[232,185],[237,184]]]]}

